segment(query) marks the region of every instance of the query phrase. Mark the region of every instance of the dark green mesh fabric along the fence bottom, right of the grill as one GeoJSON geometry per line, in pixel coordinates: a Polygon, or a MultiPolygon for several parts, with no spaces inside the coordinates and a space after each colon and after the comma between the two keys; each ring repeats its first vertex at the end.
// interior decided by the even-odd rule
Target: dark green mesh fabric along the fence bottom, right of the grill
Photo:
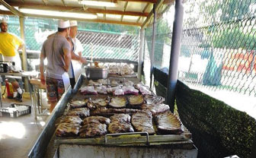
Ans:
{"type": "Polygon", "coordinates": [[[256,121],[178,81],[176,103],[181,121],[193,134],[199,157],[250,157],[256,121]]]}

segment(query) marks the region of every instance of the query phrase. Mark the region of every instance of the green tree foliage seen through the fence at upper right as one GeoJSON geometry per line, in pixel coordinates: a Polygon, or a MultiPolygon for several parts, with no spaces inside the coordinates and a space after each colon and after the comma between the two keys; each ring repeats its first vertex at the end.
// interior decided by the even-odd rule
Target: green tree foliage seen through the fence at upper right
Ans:
{"type": "MultiPolygon", "coordinates": [[[[198,3],[203,14],[204,24],[210,24],[204,30],[208,44],[214,48],[255,49],[254,11],[250,0],[222,0],[221,2],[204,0],[198,3]]],[[[206,45],[208,45],[206,44],[206,45]]],[[[201,46],[205,46],[203,43],[201,46]]]]}

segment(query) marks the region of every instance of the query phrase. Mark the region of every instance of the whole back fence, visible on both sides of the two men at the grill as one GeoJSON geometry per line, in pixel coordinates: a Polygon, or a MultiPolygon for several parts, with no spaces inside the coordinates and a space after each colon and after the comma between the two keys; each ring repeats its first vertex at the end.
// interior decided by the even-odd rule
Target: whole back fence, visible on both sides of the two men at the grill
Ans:
{"type": "MultiPolygon", "coordinates": [[[[39,53],[47,36],[57,30],[57,21],[54,19],[28,17],[24,24],[26,49],[32,53],[39,53]]],[[[138,62],[139,28],[118,27],[117,32],[111,30],[116,27],[79,21],[77,38],[84,48],[82,55],[109,62],[138,62]]],[[[21,35],[18,17],[8,17],[8,32],[21,35]]],[[[34,59],[31,62],[38,61],[34,59]]]]}

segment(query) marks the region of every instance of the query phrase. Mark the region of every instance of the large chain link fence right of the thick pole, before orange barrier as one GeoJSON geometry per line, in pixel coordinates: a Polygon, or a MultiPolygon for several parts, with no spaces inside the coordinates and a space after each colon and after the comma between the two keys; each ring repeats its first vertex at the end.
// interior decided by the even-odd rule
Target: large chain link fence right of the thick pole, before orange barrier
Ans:
{"type": "Polygon", "coordinates": [[[179,80],[256,96],[256,2],[184,3],[179,80]]]}

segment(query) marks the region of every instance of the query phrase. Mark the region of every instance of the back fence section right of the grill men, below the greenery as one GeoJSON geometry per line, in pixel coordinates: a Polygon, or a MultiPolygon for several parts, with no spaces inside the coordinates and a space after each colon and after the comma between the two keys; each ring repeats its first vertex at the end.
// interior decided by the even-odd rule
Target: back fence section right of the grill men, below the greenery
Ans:
{"type": "Polygon", "coordinates": [[[111,62],[137,62],[139,55],[139,36],[126,33],[101,33],[78,31],[83,56],[111,62]]]}

